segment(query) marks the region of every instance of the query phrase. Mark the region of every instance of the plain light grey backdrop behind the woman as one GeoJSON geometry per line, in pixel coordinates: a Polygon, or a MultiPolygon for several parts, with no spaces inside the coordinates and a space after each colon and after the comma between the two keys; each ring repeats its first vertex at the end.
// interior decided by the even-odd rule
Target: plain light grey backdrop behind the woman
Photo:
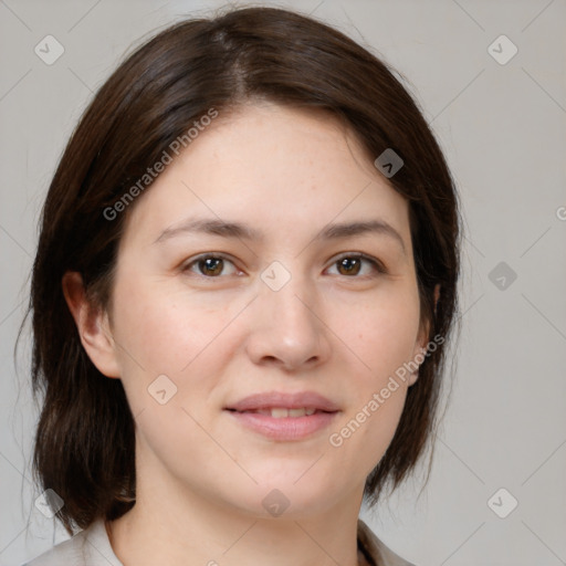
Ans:
{"type": "MultiPolygon", "coordinates": [[[[50,178],[132,44],[219,6],[0,0],[0,565],[67,538],[33,506],[29,332],[13,361],[50,178]],[[52,65],[34,53],[48,34],[65,50],[52,65]]],[[[276,6],[314,12],[408,77],[463,205],[462,333],[430,480],[422,491],[408,482],[364,517],[419,566],[566,564],[566,2],[276,6]],[[505,64],[489,52],[501,34],[518,49],[505,64]],[[492,509],[505,514],[511,496],[518,505],[500,518],[492,509]]],[[[493,49],[511,54],[505,42],[493,49]]]]}

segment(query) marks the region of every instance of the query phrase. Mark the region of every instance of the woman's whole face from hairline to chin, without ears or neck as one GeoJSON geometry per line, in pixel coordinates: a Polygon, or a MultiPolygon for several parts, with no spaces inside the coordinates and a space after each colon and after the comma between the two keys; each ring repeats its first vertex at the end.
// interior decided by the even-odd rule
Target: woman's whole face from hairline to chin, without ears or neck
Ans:
{"type": "Polygon", "coordinates": [[[326,116],[227,118],[130,205],[116,374],[139,478],[305,516],[361,497],[411,382],[395,373],[424,346],[408,206],[326,116]]]}

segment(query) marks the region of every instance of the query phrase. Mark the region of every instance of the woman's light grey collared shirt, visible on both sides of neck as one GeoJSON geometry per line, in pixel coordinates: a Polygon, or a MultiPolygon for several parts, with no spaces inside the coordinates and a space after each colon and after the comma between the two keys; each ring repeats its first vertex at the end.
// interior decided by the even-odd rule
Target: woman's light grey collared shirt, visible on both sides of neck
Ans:
{"type": "MultiPolygon", "coordinates": [[[[385,546],[371,530],[358,520],[359,566],[413,566],[385,546]]],[[[104,520],[96,520],[88,528],[23,566],[124,566],[112,548],[104,520]]]]}

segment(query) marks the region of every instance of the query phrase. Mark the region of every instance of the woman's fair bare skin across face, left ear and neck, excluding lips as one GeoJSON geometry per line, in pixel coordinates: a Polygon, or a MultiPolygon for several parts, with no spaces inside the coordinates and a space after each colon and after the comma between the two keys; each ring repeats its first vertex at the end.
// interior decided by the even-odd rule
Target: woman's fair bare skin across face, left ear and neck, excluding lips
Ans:
{"type": "Polygon", "coordinates": [[[122,379],[136,418],[137,502],[107,524],[116,555],[126,566],[356,565],[365,480],[418,375],[339,448],[328,438],[426,346],[407,201],[334,119],[254,103],[221,114],[128,213],[108,308],[85,301],[78,274],[63,282],[87,354],[122,379]],[[264,239],[155,242],[188,217],[264,239]],[[329,222],[374,219],[405,253],[382,233],[314,239],[329,222]],[[230,259],[220,274],[189,266],[210,252],[230,259]],[[388,273],[367,261],[340,270],[346,252],[388,273]],[[260,277],[273,261],[291,275],[277,292],[260,277]],[[177,387],[165,405],[148,394],[159,375],[177,387]],[[340,412],[307,439],[274,441],[222,410],[273,390],[317,391],[340,412]],[[262,505],[273,489],[290,502],[279,517],[262,505]]]}

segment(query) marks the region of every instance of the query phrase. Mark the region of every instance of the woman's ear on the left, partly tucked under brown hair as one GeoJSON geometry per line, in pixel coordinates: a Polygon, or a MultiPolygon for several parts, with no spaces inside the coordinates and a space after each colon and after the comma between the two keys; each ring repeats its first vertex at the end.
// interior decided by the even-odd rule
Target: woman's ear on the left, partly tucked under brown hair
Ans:
{"type": "Polygon", "coordinates": [[[119,377],[115,343],[105,310],[86,298],[80,273],[69,271],[62,280],[63,295],[91,361],[106,377],[119,377]]]}

